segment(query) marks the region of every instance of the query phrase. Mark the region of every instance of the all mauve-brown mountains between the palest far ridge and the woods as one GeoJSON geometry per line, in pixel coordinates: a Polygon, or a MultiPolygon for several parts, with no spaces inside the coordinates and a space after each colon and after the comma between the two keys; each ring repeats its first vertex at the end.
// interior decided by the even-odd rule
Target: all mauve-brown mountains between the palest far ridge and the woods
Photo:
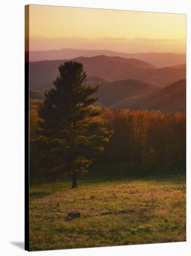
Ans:
{"type": "MultiPolygon", "coordinates": [[[[83,63],[86,84],[99,85],[95,105],[131,110],[185,111],[186,65],[157,68],[137,59],[99,55],[73,59],[83,63]]],[[[43,99],[65,60],[30,62],[30,98],[43,99]]]]}

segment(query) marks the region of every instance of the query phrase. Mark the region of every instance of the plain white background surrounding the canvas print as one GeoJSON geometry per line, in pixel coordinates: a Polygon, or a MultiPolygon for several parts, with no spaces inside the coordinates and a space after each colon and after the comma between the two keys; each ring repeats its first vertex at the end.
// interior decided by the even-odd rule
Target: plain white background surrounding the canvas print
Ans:
{"type": "MultiPolygon", "coordinates": [[[[24,251],[24,5],[46,4],[187,14],[187,242],[31,252],[35,255],[191,255],[190,0],[2,0],[0,5],[0,254],[24,251]],[[16,245],[15,245],[16,244],[16,245]],[[190,250],[190,253],[189,253],[190,250]]],[[[156,28],[157,29],[157,28],[156,28]]]]}

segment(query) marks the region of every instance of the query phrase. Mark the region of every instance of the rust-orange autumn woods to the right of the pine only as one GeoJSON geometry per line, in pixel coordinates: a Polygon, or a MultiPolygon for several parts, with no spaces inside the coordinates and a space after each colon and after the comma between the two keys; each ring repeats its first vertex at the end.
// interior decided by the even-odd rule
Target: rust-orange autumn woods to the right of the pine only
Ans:
{"type": "Polygon", "coordinates": [[[102,119],[114,130],[102,159],[133,164],[136,172],[185,169],[185,113],[105,110],[102,119]]]}

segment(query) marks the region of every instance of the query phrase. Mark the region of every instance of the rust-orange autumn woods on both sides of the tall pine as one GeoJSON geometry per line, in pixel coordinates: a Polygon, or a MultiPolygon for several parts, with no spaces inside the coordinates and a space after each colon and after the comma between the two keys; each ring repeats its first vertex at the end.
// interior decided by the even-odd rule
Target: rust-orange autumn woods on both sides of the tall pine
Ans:
{"type": "MultiPolygon", "coordinates": [[[[30,108],[30,140],[39,135],[39,101],[32,101],[30,108]]],[[[96,107],[95,107],[96,108],[96,107]]],[[[186,114],[161,113],[160,111],[129,111],[104,109],[101,119],[113,131],[104,151],[96,162],[127,163],[134,175],[174,173],[185,171],[186,114]]],[[[52,181],[63,178],[62,172],[45,168],[43,152],[30,147],[31,180],[52,181]]]]}

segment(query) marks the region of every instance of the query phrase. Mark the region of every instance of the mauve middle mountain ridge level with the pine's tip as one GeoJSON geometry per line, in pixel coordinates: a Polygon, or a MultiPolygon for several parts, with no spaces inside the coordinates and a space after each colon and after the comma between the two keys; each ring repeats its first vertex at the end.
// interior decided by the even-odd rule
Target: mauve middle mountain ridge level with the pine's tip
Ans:
{"type": "MultiPolygon", "coordinates": [[[[88,76],[102,77],[111,81],[135,79],[163,87],[186,77],[185,65],[157,68],[145,61],[105,55],[79,57],[73,60],[83,63],[88,76]]],[[[30,88],[36,90],[51,88],[52,81],[59,75],[57,67],[64,61],[30,62],[30,88]]]]}

